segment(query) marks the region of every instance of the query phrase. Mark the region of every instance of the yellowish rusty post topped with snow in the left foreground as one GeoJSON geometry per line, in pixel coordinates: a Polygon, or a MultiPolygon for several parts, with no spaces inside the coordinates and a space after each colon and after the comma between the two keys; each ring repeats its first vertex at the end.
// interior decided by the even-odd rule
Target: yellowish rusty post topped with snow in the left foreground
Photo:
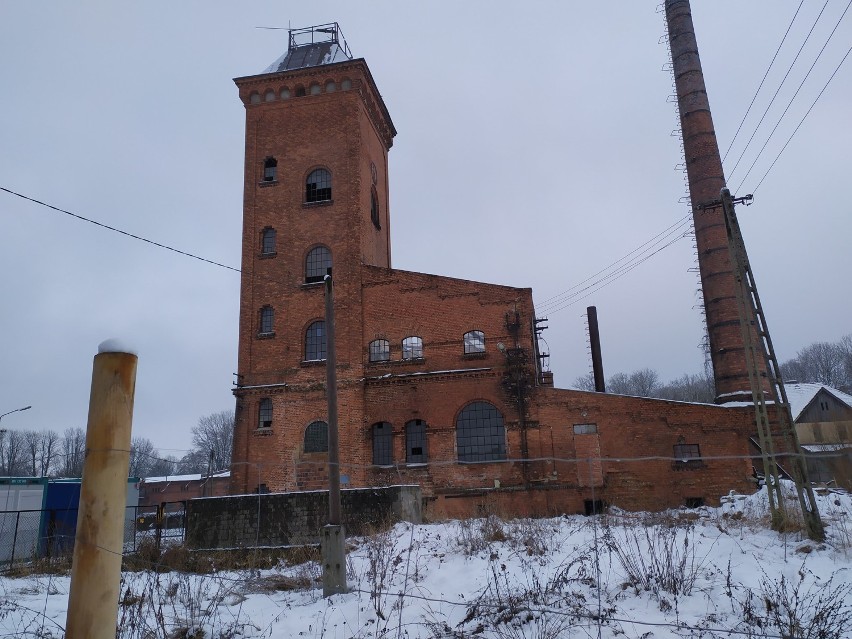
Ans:
{"type": "Polygon", "coordinates": [[[116,635],[137,359],[116,340],[95,356],[66,639],[116,635]]]}

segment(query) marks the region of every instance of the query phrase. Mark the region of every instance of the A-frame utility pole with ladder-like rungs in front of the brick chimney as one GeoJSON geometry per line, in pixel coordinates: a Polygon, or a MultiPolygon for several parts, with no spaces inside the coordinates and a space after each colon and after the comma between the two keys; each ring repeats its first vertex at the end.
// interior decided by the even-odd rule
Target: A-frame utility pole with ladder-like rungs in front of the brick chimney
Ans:
{"type": "Polygon", "coordinates": [[[787,391],[784,388],[781,368],[778,365],[778,359],[775,357],[775,349],[772,346],[772,338],[769,336],[766,316],[760,304],[760,296],[757,293],[754,273],[752,273],[751,265],[749,264],[745,242],[740,232],[737,215],[734,212],[735,201],[747,202],[751,199],[752,196],[747,195],[734,200],[731,197],[731,192],[725,188],[722,189],[720,195],[721,201],[719,203],[722,205],[725,216],[725,230],[731,254],[731,267],[734,270],[734,278],[736,280],[735,293],[740,316],[740,329],[745,346],[746,367],[748,369],[749,384],[754,401],[757,434],[760,441],[764,476],[769,495],[772,527],[775,530],[785,530],[788,527],[788,519],[784,496],[781,492],[781,483],[779,481],[778,462],[774,450],[775,445],[773,442],[772,425],[769,420],[769,411],[767,409],[767,400],[775,405],[775,416],[778,420],[777,435],[790,452],[790,475],[796,486],[796,494],[802,511],[805,531],[811,539],[822,540],[825,538],[825,530],[819,516],[813,488],[808,480],[807,465],[802,455],[799,437],[790,413],[790,403],[787,400],[787,391]],[[759,362],[761,361],[766,367],[765,380],[769,387],[768,391],[764,390],[762,383],[764,377],[759,368],[759,362]]]}

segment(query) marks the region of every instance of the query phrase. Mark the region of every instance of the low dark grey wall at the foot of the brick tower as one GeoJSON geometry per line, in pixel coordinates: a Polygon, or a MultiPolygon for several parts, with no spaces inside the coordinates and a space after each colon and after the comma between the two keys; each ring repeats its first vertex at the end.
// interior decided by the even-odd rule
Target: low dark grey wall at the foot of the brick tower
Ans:
{"type": "MultiPolygon", "coordinates": [[[[420,488],[343,490],[341,512],[350,535],[391,521],[420,523],[420,488]]],[[[327,521],[327,491],[193,499],[186,507],[186,543],[190,548],[316,544],[327,521]]]]}

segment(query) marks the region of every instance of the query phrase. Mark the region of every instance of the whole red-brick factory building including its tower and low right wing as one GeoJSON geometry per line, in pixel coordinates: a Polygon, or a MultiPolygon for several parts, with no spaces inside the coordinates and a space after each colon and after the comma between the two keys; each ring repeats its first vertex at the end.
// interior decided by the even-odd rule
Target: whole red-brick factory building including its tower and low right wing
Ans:
{"type": "Polygon", "coordinates": [[[306,45],[292,32],[280,60],[235,80],[246,160],[231,491],[326,486],[332,265],[344,485],[420,484],[433,517],[748,490],[751,462],[736,456],[749,454],[751,409],[555,389],[530,289],[391,267],[396,130],[366,62],[324,28],[306,45]]]}

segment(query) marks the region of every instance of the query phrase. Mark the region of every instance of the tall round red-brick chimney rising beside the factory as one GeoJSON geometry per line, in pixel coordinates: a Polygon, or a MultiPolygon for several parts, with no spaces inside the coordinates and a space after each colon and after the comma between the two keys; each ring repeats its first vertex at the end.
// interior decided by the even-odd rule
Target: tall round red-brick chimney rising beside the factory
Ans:
{"type": "MultiPolygon", "coordinates": [[[[665,8],[716,402],[751,400],[724,215],[721,206],[700,208],[719,200],[725,175],[698,57],[692,12],[689,0],[666,0],[665,8]]],[[[763,362],[760,366],[761,372],[765,372],[763,362]]]]}

